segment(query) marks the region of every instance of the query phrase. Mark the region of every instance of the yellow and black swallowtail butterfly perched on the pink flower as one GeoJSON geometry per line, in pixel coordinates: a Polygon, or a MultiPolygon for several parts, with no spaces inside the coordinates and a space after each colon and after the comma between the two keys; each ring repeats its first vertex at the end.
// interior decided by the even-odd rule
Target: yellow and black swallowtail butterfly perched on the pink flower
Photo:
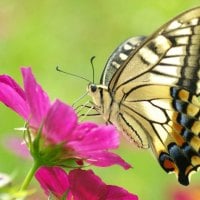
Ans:
{"type": "Polygon", "coordinates": [[[119,45],[87,90],[106,122],[188,185],[200,167],[200,7],[119,45]]]}

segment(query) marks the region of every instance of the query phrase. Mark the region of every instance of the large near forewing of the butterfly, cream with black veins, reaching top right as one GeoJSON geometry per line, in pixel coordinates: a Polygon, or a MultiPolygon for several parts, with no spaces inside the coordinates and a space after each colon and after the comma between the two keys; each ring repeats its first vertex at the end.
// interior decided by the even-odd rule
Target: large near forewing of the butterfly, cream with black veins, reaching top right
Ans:
{"type": "MultiPolygon", "coordinates": [[[[172,84],[176,85],[178,82],[176,77],[173,79],[173,76],[181,76],[181,79],[187,79],[188,77],[185,77],[185,75],[190,75],[195,79],[199,71],[199,17],[200,8],[196,8],[179,15],[174,20],[162,26],[145,43],[139,46],[134,51],[134,54],[126,60],[126,63],[120,67],[120,70],[113,76],[109,88],[115,90],[120,85],[132,80],[137,82],[154,81],[160,83],[162,79],[149,79],[149,76],[147,76],[147,72],[151,72],[159,64],[163,68],[169,68],[169,66],[174,67],[171,69],[163,69],[165,71],[167,70],[167,73],[170,73],[169,76],[172,84]],[[187,66],[191,68],[186,70],[179,69],[180,67],[185,68],[187,66]],[[174,71],[175,73],[173,73],[174,71]],[[137,79],[138,77],[139,79],[137,79]]],[[[168,77],[166,79],[169,81],[168,77]]],[[[184,84],[190,88],[187,80],[184,84]]],[[[195,82],[196,84],[197,82],[195,82]]]]}

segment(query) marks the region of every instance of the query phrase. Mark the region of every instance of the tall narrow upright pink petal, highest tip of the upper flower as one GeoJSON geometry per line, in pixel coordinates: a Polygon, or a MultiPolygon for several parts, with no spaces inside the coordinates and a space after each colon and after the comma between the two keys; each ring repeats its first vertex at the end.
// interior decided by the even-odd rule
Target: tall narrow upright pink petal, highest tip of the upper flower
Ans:
{"type": "Polygon", "coordinates": [[[36,82],[31,68],[21,68],[21,72],[27,104],[30,107],[30,123],[32,126],[39,127],[50,107],[50,100],[42,87],[36,82]]]}

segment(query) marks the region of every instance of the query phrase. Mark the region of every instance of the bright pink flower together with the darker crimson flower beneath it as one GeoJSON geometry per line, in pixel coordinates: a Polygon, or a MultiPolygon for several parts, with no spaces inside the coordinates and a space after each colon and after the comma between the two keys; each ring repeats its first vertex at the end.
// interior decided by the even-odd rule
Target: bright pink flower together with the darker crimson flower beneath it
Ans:
{"type": "Polygon", "coordinates": [[[27,122],[32,138],[28,148],[40,165],[36,178],[46,194],[74,200],[137,199],[122,188],[104,184],[91,170],[75,169],[67,174],[61,168],[71,160],[101,167],[131,166],[109,151],[119,146],[113,126],[79,123],[72,107],[60,100],[50,102],[30,68],[21,71],[24,89],[10,76],[0,76],[0,101],[27,122]]]}

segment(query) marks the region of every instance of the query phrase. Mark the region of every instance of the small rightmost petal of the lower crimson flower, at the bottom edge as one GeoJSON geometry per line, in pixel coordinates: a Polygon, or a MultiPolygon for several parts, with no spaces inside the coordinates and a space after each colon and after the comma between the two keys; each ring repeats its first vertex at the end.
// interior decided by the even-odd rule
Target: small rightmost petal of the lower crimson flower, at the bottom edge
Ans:
{"type": "Polygon", "coordinates": [[[131,194],[118,186],[108,185],[108,193],[106,200],[138,200],[137,195],[131,194]]]}

